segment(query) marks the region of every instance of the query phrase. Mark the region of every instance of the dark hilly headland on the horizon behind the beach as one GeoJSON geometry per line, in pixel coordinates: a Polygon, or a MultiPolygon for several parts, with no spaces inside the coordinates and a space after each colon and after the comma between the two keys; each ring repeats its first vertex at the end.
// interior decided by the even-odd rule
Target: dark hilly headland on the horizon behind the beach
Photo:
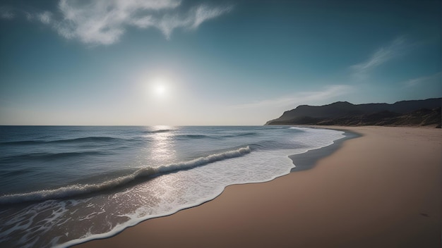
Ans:
{"type": "Polygon", "coordinates": [[[265,125],[386,125],[441,128],[442,98],[397,101],[394,104],[350,104],[338,101],[323,106],[301,105],[265,125]]]}

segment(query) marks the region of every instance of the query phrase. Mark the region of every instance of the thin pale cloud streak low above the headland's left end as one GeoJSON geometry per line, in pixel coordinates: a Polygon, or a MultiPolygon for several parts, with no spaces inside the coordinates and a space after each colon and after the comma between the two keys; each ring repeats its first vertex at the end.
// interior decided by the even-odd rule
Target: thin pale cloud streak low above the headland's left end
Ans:
{"type": "Polygon", "coordinates": [[[326,104],[333,101],[336,97],[340,97],[345,94],[350,94],[353,91],[353,87],[350,85],[330,85],[324,87],[320,91],[315,92],[299,92],[289,97],[279,97],[277,99],[266,99],[263,101],[256,101],[249,104],[240,104],[233,106],[234,108],[287,108],[298,106],[300,104],[326,104]]]}

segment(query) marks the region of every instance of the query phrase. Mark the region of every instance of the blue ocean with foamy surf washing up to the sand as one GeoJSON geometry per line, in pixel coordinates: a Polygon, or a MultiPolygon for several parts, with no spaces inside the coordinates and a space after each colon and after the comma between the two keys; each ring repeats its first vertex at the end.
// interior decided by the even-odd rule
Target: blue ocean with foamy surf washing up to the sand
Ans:
{"type": "Polygon", "coordinates": [[[344,132],[289,126],[0,126],[0,247],[68,247],[290,173],[344,132]]]}

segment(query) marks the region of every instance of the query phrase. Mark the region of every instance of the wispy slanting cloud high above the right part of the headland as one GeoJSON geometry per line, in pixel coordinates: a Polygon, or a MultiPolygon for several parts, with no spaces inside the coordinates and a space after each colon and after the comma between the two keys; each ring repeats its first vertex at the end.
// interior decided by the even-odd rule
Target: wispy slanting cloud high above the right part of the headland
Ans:
{"type": "Polygon", "coordinates": [[[377,49],[374,54],[371,54],[367,61],[350,66],[354,77],[364,79],[368,76],[370,70],[381,66],[383,63],[390,61],[392,58],[402,54],[405,48],[405,38],[398,37],[393,40],[388,46],[377,49]]]}

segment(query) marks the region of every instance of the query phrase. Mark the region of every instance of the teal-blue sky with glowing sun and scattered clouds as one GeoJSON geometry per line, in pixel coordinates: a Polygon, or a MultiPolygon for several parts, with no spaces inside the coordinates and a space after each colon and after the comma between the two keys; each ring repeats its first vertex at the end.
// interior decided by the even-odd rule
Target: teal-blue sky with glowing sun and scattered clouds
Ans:
{"type": "Polygon", "coordinates": [[[439,0],[0,0],[0,125],[263,125],[434,97],[439,0]]]}

